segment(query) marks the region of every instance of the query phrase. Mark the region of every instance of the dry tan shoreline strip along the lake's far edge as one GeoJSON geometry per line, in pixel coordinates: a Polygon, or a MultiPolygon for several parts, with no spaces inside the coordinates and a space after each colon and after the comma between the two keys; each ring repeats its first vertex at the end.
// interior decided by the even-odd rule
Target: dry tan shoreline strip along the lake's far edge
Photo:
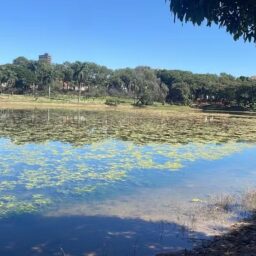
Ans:
{"type": "Polygon", "coordinates": [[[48,99],[47,97],[38,97],[35,100],[32,96],[24,95],[1,95],[0,94],[0,109],[65,109],[65,110],[88,110],[88,111],[126,111],[126,112],[148,112],[148,113],[193,113],[202,115],[234,115],[254,117],[256,112],[250,111],[225,111],[225,110],[203,110],[184,105],[169,105],[156,103],[150,106],[137,107],[132,105],[131,99],[125,103],[120,103],[117,106],[105,104],[103,98],[87,99],[80,103],[74,99],[67,101],[65,99],[48,99]]]}

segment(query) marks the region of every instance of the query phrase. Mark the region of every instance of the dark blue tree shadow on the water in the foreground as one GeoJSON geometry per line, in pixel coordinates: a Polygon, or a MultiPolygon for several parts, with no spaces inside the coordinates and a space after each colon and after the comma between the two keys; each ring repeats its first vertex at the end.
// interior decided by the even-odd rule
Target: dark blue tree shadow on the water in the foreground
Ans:
{"type": "Polygon", "coordinates": [[[139,219],[23,215],[0,220],[0,237],[5,256],[149,256],[192,248],[206,235],[139,219]]]}

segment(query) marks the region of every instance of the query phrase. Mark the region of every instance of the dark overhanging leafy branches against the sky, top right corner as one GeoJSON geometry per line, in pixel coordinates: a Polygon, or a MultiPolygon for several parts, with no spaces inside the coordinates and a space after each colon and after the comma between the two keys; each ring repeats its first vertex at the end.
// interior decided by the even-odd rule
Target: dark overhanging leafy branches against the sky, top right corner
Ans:
{"type": "Polygon", "coordinates": [[[256,42],[255,0],[168,0],[170,10],[180,21],[207,26],[217,24],[237,40],[256,42]]]}

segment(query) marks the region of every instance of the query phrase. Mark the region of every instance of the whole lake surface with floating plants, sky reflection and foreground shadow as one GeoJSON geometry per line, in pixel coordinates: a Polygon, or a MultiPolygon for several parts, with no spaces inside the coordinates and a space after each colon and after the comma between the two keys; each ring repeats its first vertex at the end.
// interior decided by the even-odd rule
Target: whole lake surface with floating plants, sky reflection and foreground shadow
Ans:
{"type": "Polygon", "coordinates": [[[255,188],[255,141],[254,117],[1,110],[0,255],[192,248],[195,208],[255,188]]]}

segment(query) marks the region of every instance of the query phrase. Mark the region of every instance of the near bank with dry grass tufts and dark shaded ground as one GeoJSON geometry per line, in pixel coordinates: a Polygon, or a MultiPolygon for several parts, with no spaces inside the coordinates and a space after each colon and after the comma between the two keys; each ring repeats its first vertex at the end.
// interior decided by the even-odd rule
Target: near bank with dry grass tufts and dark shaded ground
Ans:
{"type": "MultiPolygon", "coordinates": [[[[209,240],[202,240],[201,245],[191,251],[160,253],[157,256],[255,256],[256,255],[256,191],[248,191],[240,197],[226,195],[209,201],[199,207],[203,216],[211,219],[233,219],[235,223],[226,226],[226,230],[211,235],[204,230],[209,240]],[[221,214],[222,213],[222,214],[221,214]],[[225,213],[225,214],[223,214],[225,213]],[[240,219],[240,221],[239,221],[240,219]],[[211,238],[211,239],[210,239],[211,238]]],[[[202,216],[201,218],[202,219],[202,216]]],[[[192,229],[195,230],[195,229],[192,229]]]]}

